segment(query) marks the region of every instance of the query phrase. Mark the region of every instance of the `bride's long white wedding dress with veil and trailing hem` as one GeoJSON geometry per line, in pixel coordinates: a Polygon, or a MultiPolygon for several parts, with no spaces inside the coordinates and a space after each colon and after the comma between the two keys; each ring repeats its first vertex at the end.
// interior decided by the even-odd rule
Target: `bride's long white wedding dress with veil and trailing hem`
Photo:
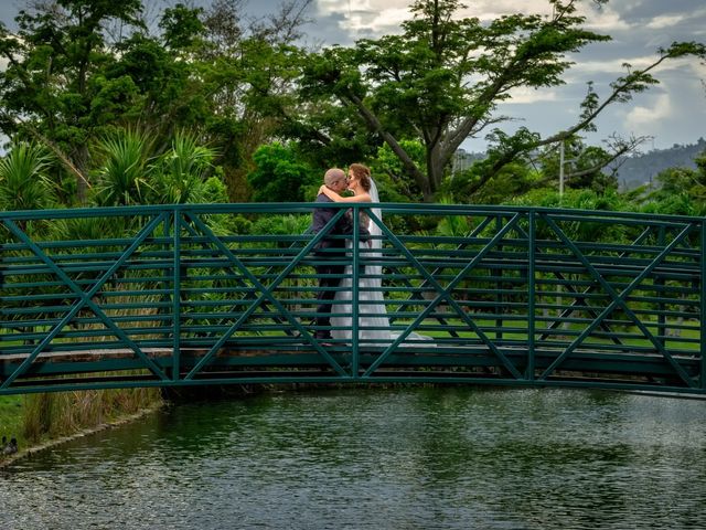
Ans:
{"type": "MultiPolygon", "coordinates": [[[[377,194],[377,187],[371,179],[370,195],[372,203],[379,203],[379,195],[377,194]]],[[[379,208],[371,208],[371,213],[375,215],[379,221],[383,220],[383,214],[379,208]]],[[[367,218],[367,215],[365,215],[367,218]]],[[[361,220],[362,222],[363,220],[361,220]]],[[[367,230],[371,234],[371,246],[367,242],[360,242],[360,258],[378,259],[382,257],[382,229],[372,219],[368,221],[367,230]]],[[[351,248],[351,240],[346,242],[346,246],[351,248]]],[[[393,332],[389,318],[387,317],[387,308],[385,306],[385,299],[383,297],[382,288],[382,271],[379,265],[367,265],[365,267],[365,274],[359,276],[359,343],[360,346],[388,346],[399,338],[399,333],[393,332]]],[[[352,331],[352,315],[353,308],[351,306],[352,289],[352,266],[346,265],[344,277],[341,280],[340,290],[336,292],[333,298],[333,306],[331,312],[340,316],[331,317],[331,326],[333,329],[331,335],[334,339],[351,340],[352,331]]],[[[420,340],[429,341],[431,337],[426,337],[415,332],[405,337],[404,341],[399,346],[414,346],[420,340]]]]}

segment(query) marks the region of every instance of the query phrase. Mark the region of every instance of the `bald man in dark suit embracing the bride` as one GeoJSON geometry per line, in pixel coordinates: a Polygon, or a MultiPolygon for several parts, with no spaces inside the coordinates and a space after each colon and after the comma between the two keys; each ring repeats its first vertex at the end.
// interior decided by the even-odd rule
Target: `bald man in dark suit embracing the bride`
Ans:
{"type": "MultiPolygon", "coordinates": [[[[330,190],[341,194],[347,187],[345,172],[339,168],[329,169],[323,176],[323,183],[330,190]]],[[[324,193],[319,193],[317,202],[333,202],[324,193]]],[[[315,208],[313,210],[313,222],[311,230],[314,234],[321,232],[324,226],[339,213],[338,208],[315,208]]],[[[329,235],[352,235],[353,222],[351,218],[343,214],[332,227],[329,227],[327,235],[319,241],[314,248],[318,264],[314,266],[319,277],[319,290],[317,293],[317,318],[314,320],[317,330],[313,336],[319,340],[331,340],[331,303],[335,297],[335,287],[341,283],[341,275],[345,269],[342,263],[332,264],[328,261],[342,262],[345,258],[345,240],[329,237],[329,235]],[[327,277],[328,276],[328,277],[327,277]]]]}

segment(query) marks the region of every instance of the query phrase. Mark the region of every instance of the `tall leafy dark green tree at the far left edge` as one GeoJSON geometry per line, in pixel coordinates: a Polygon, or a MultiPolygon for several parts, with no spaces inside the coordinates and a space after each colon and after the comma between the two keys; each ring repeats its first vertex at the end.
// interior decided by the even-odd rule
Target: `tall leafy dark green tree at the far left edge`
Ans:
{"type": "Polygon", "coordinates": [[[100,114],[92,112],[103,87],[95,75],[111,59],[105,28],[115,21],[139,28],[141,9],[140,0],[57,0],[20,11],[17,35],[0,25],[0,54],[8,61],[0,74],[0,129],[46,140],[79,176],[82,197],[88,138],[100,125],[100,114]]]}

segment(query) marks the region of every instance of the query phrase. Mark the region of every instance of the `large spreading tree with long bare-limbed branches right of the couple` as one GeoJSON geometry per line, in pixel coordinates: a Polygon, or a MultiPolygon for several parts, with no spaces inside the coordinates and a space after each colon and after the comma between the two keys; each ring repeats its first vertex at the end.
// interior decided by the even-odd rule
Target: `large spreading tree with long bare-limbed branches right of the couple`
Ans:
{"type": "MultiPolygon", "coordinates": [[[[581,26],[585,19],[576,14],[577,0],[548,2],[553,7],[549,17],[513,14],[484,25],[479,19],[456,20],[461,7],[458,0],[416,0],[410,8],[413,18],[403,23],[403,34],[311,54],[302,97],[335,99],[355,109],[399,158],[425,200],[430,200],[461,142],[503,119],[496,107],[511,98],[513,88],[561,84],[573,64],[568,53],[610,39],[581,26]],[[411,138],[425,146],[426,172],[400,144],[411,138]]],[[[628,66],[628,73],[602,99],[589,85],[577,123],[548,138],[526,128],[512,136],[493,131],[494,145],[478,168],[482,178],[477,187],[522,153],[590,130],[608,105],[627,102],[655,84],[651,72],[656,66],[689,54],[706,56],[704,45],[675,43],[660,50],[644,68],[628,66]]]]}

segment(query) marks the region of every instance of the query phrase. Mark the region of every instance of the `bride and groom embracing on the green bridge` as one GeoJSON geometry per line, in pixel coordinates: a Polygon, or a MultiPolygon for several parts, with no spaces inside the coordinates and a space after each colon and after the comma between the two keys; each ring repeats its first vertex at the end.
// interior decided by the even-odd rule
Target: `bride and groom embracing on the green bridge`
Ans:
{"type": "MultiPolygon", "coordinates": [[[[379,202],[377,187],[371,178],[371,170],[362,163],[353,163],[346,172],[342,169],[329,169],[323,179],[324,183],[319,189],[317,202],[367,202],[372,203],[367,211],[382,222],[382,212],[374,204],[379,202]],[[342,197],[344,190],[353,192],[352,197],[342,197]]],[[[351,212],[355,212],[352,210],[351,212]]],[[[327,226],[329,221],[335,216],[339,209],[317,208],[313,212],[312,231],[318,233],[327,226]]],[[[341,342],[350,341],[352,336],[352,266],[344,265],[346,258],[350,261],[350,248],[352,247],[353,220],[351,212],[346,212],[328,231],[319,242],[315,251],[321,258],[315,267],[319,278],[319,292],[317,294],[317,318],[314,338],[324,343],[334,339],[343,339],[341,342]],[[335,235],[338,237],[328,237],[335,235]],[[342,237],[347,236],[347,237],[342,237]],[[339,263],[327,263],[327,259],[339,263]],[[332,316],[333,314],[333,316],[332,316]],[[331,329],[331,328],[334,329],[331,329]],[[340,329],[335,329],[340,328],[340,329]]],[[[373,222],[363,210],[360,214],[360,241],[361,255],[375,258],[381,256],[382,229],[377,222],[373,222]]],[[[361,346],[374,346],[389,343],[398,335],[391,331],[387,309],[382,289],[382,267],[366,266],[364,274],[359,276],[357,289],[359,303],[359,341],[361,346]]],[[[410,338],[420,338],[417,333],[411,333],[410,338]]],[[[426,339],[426,337],[424,337],[426,339]]]]}

